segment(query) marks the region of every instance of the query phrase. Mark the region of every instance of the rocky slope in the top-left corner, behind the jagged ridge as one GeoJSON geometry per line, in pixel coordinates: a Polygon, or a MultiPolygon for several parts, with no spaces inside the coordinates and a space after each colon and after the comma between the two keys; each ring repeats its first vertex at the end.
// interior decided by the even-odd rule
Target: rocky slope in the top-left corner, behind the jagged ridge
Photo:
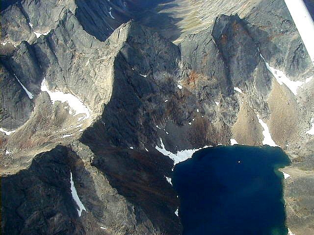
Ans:
{"type": "Polygon", "coordinates": [[[47,34],[66,9],[75,10],[73,0],[14,0],[1,4],[1,43],[18,45],[47,34]]]}

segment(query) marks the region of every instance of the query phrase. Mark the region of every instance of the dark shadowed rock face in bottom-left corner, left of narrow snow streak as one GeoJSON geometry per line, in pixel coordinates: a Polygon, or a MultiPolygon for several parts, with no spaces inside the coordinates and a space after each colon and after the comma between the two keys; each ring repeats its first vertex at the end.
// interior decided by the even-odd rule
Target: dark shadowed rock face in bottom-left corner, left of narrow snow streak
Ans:
{"type": "Polygon", "coordinates": [[[71,195],[68,161],[66,148],[58,146],[37,155],[29,168],[2,177],[3,234],[84,234],[71,195]]]}

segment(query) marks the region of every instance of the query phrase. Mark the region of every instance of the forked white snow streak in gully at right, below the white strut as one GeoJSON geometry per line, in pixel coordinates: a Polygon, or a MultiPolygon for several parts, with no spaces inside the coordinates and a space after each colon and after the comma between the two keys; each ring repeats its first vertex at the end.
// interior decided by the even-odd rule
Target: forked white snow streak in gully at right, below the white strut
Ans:
{"type": "MultiPolygon", "coordinates": [[[[259,49],[260,50],[260,49],[259,49]]],[[[297,90],[299,87],[301,87],[304,82],[302,81],[291,81],[287,76],[286,74],[283,72],[283,71],[280,71],[280,70],[277,70],[275,69],[274,67],[271,67],[267,62],[266,60],[264,59],[264,57],[262,56],[262,54],[260,53],[262,59],[264,60],[265,62],[265,65],[267,67],[267,69],[273,74],[273,76],[276,78],[277,82],[282,85],[282,84],[285,84],[288,89],[294,94],[294,95],[297,95],[297,90]]]]}

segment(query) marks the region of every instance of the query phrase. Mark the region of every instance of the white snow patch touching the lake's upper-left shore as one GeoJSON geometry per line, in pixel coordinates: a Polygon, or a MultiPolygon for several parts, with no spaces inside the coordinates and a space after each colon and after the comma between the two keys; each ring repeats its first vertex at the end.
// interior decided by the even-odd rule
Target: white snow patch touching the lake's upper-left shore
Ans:
{"type": "Polygon", "coordinates": [[[185,149],[185,150],[181,150],[181,151],[177,151],[177,153],[172,153],[168,150],[165,149],[165,145],[162,142],[162,139],[160,138],[160,147],[156,146],[155,148],[162,153],[165,156],[168,156],[169,158],[171,158],[174,161],[174,165],[181,163],[189,158],[192,157],[193,153],[195,153],[198,150],[201,150],[203,148],[208,148],[211,146],[204,146],[202,148],[198,148],[198,149],[185,149]]]}

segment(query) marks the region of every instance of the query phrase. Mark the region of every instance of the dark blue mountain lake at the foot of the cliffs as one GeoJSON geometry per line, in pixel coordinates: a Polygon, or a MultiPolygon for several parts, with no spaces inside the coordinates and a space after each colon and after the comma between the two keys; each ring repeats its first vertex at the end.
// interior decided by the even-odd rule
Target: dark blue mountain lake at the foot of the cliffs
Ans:
{"type": "Polygon", "coordinates": [[[279,147],[218,146],[177,164],[183,235],[287,235],[279,147]]]}

